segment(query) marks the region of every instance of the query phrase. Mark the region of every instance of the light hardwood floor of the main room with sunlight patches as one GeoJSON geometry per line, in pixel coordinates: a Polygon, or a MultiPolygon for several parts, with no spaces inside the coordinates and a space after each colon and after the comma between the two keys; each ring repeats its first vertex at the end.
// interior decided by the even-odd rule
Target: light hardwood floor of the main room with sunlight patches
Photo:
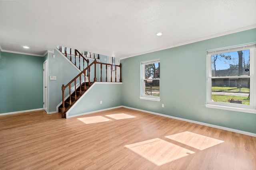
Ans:
{"type": "Polygon", "coordinates": [[[256,137],[118,108],[0,131],[0,169],[255,170],[256,137]]]}

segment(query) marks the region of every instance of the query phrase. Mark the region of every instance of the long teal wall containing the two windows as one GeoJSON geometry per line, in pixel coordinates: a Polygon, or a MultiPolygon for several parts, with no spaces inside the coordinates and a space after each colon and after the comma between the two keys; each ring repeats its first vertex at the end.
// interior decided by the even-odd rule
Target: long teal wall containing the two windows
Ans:
{"type": "Polygon", "coordinates": [[[256,114],[206,108],[206,50],[256,42],[256,29],[122,59],[122,105],[256,133],[256,114]],[[160,59],[160,102],[140,100],[140,62],[160,59]],[[164,108],[161,107],[164,104],[164,108]]]}

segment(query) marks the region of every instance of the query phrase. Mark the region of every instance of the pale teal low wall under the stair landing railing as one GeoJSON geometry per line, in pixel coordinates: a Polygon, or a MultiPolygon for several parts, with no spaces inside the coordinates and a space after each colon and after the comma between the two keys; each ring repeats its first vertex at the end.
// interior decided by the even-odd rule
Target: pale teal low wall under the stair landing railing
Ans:
{"type": "Polygon", "coordinates": [[[75,107],[69,110],[68,115],[78,115],[90,111],[107,109],[122,105],[122,84],[95,84],[82,97],[75,107]],[[102,104],[100,104],[102,101],[102,104]]]}

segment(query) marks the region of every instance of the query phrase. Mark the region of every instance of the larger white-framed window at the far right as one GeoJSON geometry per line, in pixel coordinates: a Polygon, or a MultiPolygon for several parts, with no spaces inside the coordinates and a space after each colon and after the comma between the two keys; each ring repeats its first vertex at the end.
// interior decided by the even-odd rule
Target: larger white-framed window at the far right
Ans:
{"type": "Polygon", "coordinates": [[[256,44],[207,51],[206,107],[256,113],[256,44]]]}

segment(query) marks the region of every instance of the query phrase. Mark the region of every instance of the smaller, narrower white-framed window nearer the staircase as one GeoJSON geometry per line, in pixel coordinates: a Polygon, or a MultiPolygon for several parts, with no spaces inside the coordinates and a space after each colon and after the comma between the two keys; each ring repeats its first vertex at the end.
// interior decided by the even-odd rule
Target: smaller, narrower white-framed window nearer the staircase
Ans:
{"type": "Polygon", "coordinates": [[[160,60],[144,61],[141,66],[140,99],[160,101],[160,60]]]}

